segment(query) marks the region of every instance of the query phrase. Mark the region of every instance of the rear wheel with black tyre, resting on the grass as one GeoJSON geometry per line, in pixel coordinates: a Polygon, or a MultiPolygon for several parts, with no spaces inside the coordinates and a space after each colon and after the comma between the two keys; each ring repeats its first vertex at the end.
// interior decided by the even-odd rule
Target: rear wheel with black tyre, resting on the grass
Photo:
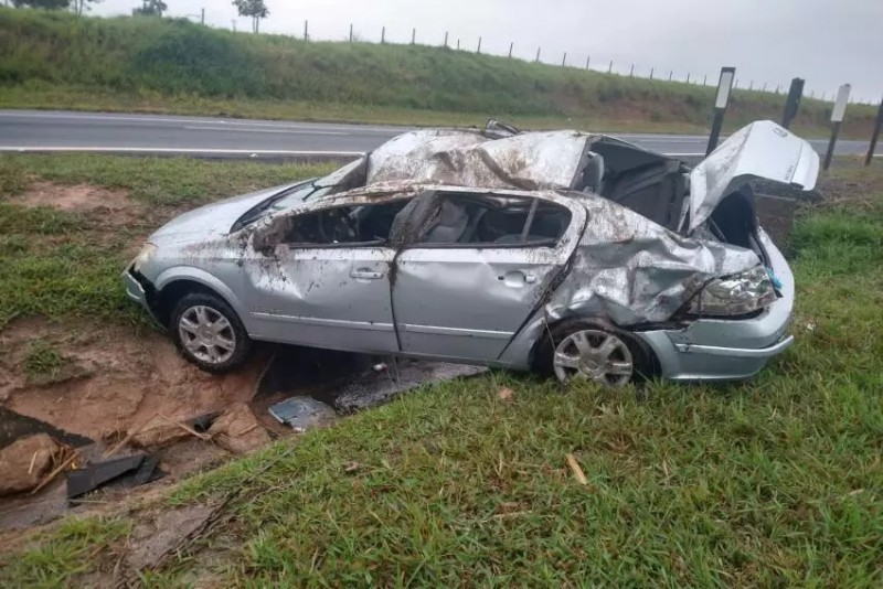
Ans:
{"type": "Polygon", "coordinates": [[[640,383],[655,374],[652,354],[629,332],[603,320],[568,319],[547,332],[536,367],[564,385],[586,378],[606,387],[640,383]]]}

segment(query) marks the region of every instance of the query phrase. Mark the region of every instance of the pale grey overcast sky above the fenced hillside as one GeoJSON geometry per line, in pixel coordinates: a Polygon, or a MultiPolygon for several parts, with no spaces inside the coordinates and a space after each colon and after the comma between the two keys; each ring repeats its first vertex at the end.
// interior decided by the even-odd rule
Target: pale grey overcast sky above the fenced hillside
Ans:
{"type": "MultiPolygon", "coordinates": [[[[169,15],[198,15],[205,8],[212,26],[248,31],[228,0],[166,0],[169,15]]],[[[128,14],[139,0],[103,0],[94,14],[128,14]]],[[[883,0],[267,0],[262,31],[304,34],[309,20],[316,40],[343,40],[353,23],[363,40],[449,42],[482,53],[514,54],[593,68],[648,75],[651,66],[668,76],[716,81],[722,65],[737,68],[740,87],[806,78],[806,94],[830,98],[842,83],[855,100],[883,96],[883,0]]]]}

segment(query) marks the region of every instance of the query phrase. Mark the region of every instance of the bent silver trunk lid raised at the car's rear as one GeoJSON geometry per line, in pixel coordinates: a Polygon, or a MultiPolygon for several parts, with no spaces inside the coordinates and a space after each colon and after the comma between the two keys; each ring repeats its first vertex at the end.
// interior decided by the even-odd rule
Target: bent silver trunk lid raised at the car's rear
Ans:
{"type": "Polygon", "coordinates": [[[819,156],[808,141],[772,120],[743,127],[690,173],[690,227],[702,225],[721,201],[752,179],[812,190],[819,156]]]}

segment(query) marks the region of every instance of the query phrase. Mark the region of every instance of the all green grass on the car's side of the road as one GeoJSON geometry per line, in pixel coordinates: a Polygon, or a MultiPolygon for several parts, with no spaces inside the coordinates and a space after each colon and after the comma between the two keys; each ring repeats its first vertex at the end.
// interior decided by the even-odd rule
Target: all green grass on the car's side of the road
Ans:
{"type": "MultiPolygon", "coordinates": [[[[0,265],[11,269],[0,325],[100,309],[134,320],[116,276],[130,237],[99,237],[97,212],[25,208],[17,199],[34,182],[126,189],[170,212],[315,173],[83,156],[0,162],[0,265]]],[[[497,372],[426,386],[185,481],[166,508],[204,503],[222,515],[140,582],[880,587],[883,171],[838,161],[821,190],[790,242],[797,342],[756,378],[563,392],[497,372]]],[[[0,555],[0,585],[109,583],[140,516],[105,512],[40,532],[0,555]]]]}

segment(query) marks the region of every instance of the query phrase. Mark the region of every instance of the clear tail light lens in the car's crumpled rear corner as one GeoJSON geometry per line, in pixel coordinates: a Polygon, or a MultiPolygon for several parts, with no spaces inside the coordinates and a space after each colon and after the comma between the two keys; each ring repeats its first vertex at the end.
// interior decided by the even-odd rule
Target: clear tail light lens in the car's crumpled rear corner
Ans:
{"type": "Polygon", "coordinates": [[[743,315],[767,307],[778,298],[766,268],[715,278],[690,301],[695,315],[743,315]]]}

